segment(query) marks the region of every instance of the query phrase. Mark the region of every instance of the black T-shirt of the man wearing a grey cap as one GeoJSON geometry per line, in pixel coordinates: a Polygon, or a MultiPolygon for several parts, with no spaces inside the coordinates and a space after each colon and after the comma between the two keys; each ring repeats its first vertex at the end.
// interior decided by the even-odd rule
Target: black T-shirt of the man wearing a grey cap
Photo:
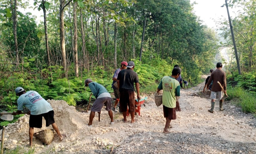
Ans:
{"type": "Polygon", "coordinates": [[[118,74],[117,80],[120,80],[119,91],[134,91],[134,82],[139,82],[138,74],[130,68],[121,70],[118,74]]]}

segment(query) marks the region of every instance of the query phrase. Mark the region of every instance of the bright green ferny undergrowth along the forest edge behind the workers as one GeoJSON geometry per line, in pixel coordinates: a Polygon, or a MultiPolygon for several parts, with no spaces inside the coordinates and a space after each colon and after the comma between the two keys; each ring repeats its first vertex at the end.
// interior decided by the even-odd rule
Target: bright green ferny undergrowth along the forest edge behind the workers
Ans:
{"type": "MultiPolygon", "coordinates": [[[[144,63],[142,63],[139,58],[130,59],[129,61],[134,61],[135,63],[134,71],[137,72],[139,77],[141,95],[143,95],[142,93],[148,94],[155,92],[161,78],[163,76],[170,76],[173,66],[177,64],[175,60],[170,64],[157,57],[150,60],[144,59],[144,63]]],[[[35,67],[32,62],[33,59],[26,59],[26,65],[23,66],[25,69],[10,72],[9,74],[1,74],[2,78],[0,79],[0,83],[3,84],[0,85],[0,103],[2,105],[9,104],[13,106],[14,111],[16,111],[18,96],[16,96],[14,90],[16,87],[21,86],[26,91],[37,91],[46,100],[65,100],[67,104],[76,106],[76,102],[78,101],[89,101],[91,93],[90,88],[84,87],[84,80],[87,78],[91,78],[92,81],[103,85],[107,91],[113,93],[111,84],[115,69],[110,66],[103,67],[94,65],[96,67],[79,72],[79,77],[75,77],[74,65],[71,64],[68,77],[65,78],[63,77],[64,71],[62,66],[54,65],[47,67],[43,65],[40,70],[35,67]]],[[[197,68],[191,68],[197,70],[197,68]]],[[[191,72],[186,72],[186,69],[182,71],[184,76],[189,76],[190,80],[198,80],[199,74],[194,73],[196,74],[196,76],[194,76],[191,72]],[[196,78],[196,80],[194,78],[196,78]]],[[[92,98],[95,97],[92,96],[92,98]]],[[[8,109],[7,111],[12,112],[13,110],[8,109]]],[[[17,119],[18,117],[14,120],[17,119]]],[[[4,125],[6,125],[6,123],[4,125]]]]}

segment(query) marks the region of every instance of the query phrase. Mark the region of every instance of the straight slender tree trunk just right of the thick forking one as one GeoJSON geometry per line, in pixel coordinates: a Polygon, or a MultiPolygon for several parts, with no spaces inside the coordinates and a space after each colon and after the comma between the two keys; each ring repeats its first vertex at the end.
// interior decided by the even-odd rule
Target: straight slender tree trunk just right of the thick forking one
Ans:
{"type": "Polygon", "coordinates": [[[73,21],[74,21],[74,65],[75,65],[75,76],[78,77],[78,55],[77,55],[77,17],[76,17],[77,2],[74,2],[73,21]]]}

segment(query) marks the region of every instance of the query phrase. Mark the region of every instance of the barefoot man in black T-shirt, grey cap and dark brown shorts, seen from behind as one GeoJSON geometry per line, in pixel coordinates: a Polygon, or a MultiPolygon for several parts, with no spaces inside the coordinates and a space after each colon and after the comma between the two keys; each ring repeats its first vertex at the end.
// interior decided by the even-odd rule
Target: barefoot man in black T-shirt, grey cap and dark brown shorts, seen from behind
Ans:
{"type": "Polygon", "coordinates": [[[119,72],[117,76],[117,85],[120,91],[120,109],[124,116],[123,121],[126,123],[126,112],[127,105],[129,108],[129,112],[131,114],[131,123],[135,123],[135,94],[134,94],[134,83],[137,91],[137,99],[140,99],[140,85],[139,85],[139,77],[136,72],[134,72],[135,64],[134,62],[128,62],[126,66],[127,69],[123,69],[119,72]]]}

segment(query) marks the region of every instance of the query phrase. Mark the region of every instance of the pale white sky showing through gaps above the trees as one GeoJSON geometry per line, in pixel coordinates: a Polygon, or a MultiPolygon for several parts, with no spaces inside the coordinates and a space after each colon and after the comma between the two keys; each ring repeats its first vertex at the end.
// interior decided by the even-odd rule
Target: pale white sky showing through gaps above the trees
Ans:
{"type": "MultiPolygon", "coordinates": [[[[34,0],[29,0],[30,5],[33,6],[34,0]]],[[[219,18],[225,18],[228,20],[228,13],[227,13],[227,8],[226,6],[221,7],[223,4],[225,4],[225,0],[190,0],[190,2],[196,2],[197,4],[194,5],[194,12],[195,14],[200,17],[200,19],[203,21],[203,25],[207,25],[209,28],[216,29],[217,26],[215,24],[214,20],[219,20],[219,18]]],[[[228,8],[229,14],[232,17],[235,16],[235,8],[228,8]]],[[[37,16],[36,21],[43,21],[44,18],[40,17],[40,13],[43,11],[41,10],[40,12],[35,9],[26,9],[26,10],[20,10],[21,12],[32,12],[33,15],[37,16]]]]}

